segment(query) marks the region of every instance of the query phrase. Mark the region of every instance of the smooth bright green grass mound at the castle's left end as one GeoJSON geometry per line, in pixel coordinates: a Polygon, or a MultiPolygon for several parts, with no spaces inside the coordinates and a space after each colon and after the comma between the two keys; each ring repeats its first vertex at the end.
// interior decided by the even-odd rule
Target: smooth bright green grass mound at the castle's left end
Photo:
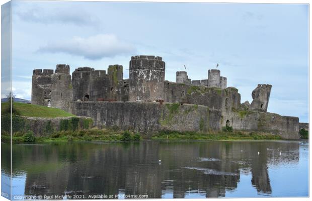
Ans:
{"type": "MultiPolygon", "coordinates": [[[[57,108],[48,108],[45,106],[23,104],[23,103],[13,103],[13,108],[16,111],[16,115],[26,116],[26,117],[45,117],[45,118],[55,118],[55,117],[75,117],[70,113],[57,108]]],[[[8,114],[9,103],[1,103],[1,114],[8,114]]]]}

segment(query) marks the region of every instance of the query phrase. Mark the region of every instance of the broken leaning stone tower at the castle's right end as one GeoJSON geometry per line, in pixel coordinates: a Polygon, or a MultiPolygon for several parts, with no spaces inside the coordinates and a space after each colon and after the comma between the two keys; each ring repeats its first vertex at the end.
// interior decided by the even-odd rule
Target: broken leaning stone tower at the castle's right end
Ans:
{"type": "Polygon", "coordinates": [[[252,110],[267,112],[271,88],[272,85],[270,84],[258,84],[258,86],[252,92],[252,110]]]}

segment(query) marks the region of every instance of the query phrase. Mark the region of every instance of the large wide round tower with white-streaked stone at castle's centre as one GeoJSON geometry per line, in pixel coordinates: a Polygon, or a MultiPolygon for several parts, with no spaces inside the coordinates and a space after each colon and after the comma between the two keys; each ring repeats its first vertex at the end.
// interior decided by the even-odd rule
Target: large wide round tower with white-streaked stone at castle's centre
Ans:
{"type": "Polygon", "coordinates": [[[165,62],[162,57],[131,57],[129,101],[158,100],[165,97],[165,62]]]}

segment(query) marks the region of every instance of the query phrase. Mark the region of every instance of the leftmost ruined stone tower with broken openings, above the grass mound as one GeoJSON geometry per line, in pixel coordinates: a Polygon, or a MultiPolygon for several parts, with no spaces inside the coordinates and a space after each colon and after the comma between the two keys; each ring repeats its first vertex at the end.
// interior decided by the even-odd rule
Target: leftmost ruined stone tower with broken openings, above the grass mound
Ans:
{"type": "Polygon", "coordinates": [[[31,103],[41,106],[51,105],[51,75],[52,69],[33,70],[31,103]]]}

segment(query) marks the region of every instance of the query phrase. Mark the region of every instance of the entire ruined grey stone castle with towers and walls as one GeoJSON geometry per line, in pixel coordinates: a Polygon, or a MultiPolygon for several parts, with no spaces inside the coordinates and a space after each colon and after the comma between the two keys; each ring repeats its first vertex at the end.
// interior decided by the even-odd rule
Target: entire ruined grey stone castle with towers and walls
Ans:
{"type": "Polygon", "coordinates": [[[159,130],[207,132],[231,126],[236,130],[264,131],[297,139],[298,118],[267,113],[271,85],[258,84],[253,102],[241,104],[235,87],[226,86],[220,70],[209,69],[207,79],[191,80],[186,71],[176,82],[165,80],[162,57],[132,56],[129,79],[123,66],[108,70],[58,64],[55,71],[35,69],[32,104],[59,108],[92,117],[97,127],[117,126],[145,133],[159,130]]]}

